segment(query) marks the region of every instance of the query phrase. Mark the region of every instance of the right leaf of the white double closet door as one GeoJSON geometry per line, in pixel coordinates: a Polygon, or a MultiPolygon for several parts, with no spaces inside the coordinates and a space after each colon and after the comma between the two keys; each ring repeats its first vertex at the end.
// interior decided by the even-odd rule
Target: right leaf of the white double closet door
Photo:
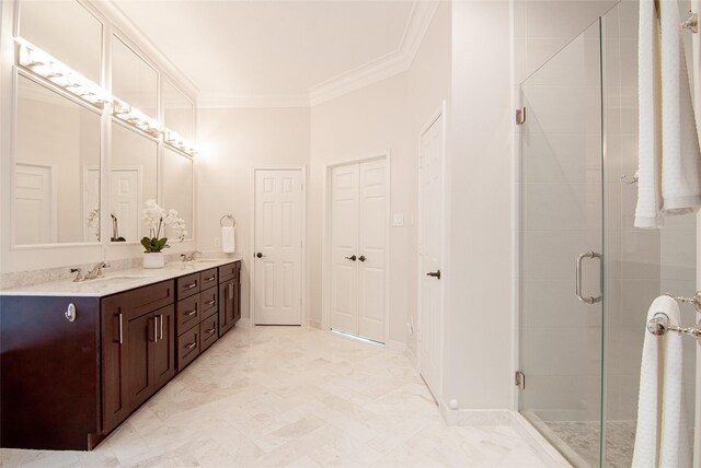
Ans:
{"type": "Polygon", "coordinates": [[[386,160],[360,164],[358,218],[358,335],[384,342],[386,160]]]}

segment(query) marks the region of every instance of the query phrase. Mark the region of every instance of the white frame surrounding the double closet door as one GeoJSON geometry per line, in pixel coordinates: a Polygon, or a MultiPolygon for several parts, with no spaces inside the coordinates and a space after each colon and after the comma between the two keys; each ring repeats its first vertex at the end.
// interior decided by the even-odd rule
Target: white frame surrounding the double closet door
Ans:
{"type": "Polygon", "coordinates": [[[391,195],[392,195],[392,151],[387,149],[384,151],[378,151],[370,153],[369,155],[361,157],[354,157],[348,160],[340,160],[337,162],[327,163],[324,165],[324,182],[323,182],[323,196],[322,196],[322,212],[323,212],[323,230],[321,235],[321,329],[331,330],[331,172],[334,167],[346,166],[349,164],[359,164],[369,161],[384,160],[387,174],[384,178],[384,204],[386,204],[386,222],[387,230],[384,231],[384,346],[390,342],[390,231],[391,224],[391,195]]]}

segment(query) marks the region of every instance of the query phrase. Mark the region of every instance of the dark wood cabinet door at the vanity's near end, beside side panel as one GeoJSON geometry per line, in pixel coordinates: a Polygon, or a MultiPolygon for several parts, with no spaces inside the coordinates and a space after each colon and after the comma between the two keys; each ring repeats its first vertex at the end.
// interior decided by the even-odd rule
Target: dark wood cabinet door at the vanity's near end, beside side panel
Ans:
{"type": "Polygon", "coordinates": [[[102,431],[107,433],[129,416],[127,398],[127,332],[124,304],[108,297],[102,305],[102,431]]]}

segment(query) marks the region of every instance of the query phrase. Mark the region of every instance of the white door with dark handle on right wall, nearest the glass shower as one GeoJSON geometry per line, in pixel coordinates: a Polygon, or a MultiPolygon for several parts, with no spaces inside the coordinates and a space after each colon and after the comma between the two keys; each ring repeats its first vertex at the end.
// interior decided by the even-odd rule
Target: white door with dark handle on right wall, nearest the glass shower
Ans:
{"type": "Polygon", "coordinates": [[[443,288],[443,115],[421,136],[418,371],[430,391],[440,393],[443,288]]]}

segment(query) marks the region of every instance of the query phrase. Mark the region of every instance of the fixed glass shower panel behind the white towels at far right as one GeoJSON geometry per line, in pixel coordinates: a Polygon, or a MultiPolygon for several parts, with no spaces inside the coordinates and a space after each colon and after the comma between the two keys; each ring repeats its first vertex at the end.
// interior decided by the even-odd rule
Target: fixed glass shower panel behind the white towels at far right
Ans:
{"type": "MultiPolygon", "coordinates": [[[[628,467],[633,459],[640,365],[650,304],[664,293],[689,296],[696,291],[696,217],[669,217],[659,230],[633,227],[637,202],[637,185],[633,179],[637,168],[637,9],[636,2],[620,2],[602,17],[607,116],[604,466],[628,467]]],[[[688,9],[688,2],[680,4],[680,9],[688,9]]],[[[682,324],[691,326],[693,307],[680,308],[682,324]]],[[[696,343],[686,338],[682,342],[687,417],[689,424],[693,424],[696,343]]]]}

